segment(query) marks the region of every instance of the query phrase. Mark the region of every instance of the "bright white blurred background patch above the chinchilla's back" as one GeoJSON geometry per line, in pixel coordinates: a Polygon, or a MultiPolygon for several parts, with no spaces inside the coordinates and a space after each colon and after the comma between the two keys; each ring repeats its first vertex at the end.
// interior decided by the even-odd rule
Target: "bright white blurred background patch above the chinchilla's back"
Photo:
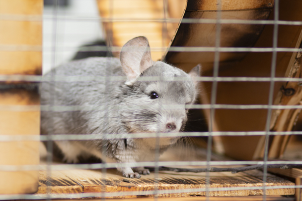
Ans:
{"type": "Polygon", "coordinates": [[[97,1],[61,0],[56,11],[53,4],[54,0],[44,0],[43,74],[71,60],[81,45],[104,38],[97,1]]]}

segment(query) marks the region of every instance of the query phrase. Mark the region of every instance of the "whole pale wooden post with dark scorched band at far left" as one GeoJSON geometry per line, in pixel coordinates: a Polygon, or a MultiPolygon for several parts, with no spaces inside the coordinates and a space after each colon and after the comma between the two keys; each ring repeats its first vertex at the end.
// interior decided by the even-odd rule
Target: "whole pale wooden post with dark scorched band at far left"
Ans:
{"type": "MultiPolygon", "coordinates": [[[[42,0],[0,0],[0,75],[42,74],[42,11],[42,0]]],[[[39,135],[39,104],[38,83],[1,80],[0,137],[39,135]]],[[[39,142],[0,140],[0,166],[38,164],[39,142]]],[[[38,179],[38,171],[0,170],[0,194],[34,193],[38,179]]]]}

